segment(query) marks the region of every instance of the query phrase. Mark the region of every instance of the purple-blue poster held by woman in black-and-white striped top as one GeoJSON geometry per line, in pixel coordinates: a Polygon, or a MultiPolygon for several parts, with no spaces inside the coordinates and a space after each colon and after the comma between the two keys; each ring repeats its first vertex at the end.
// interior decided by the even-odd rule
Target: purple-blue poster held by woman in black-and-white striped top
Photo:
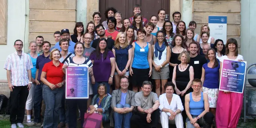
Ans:
{"type": "Polygon", "coordinates": [[[66,99],[89,98],[88,68],[68,66],[66,69],[66,99]]]}

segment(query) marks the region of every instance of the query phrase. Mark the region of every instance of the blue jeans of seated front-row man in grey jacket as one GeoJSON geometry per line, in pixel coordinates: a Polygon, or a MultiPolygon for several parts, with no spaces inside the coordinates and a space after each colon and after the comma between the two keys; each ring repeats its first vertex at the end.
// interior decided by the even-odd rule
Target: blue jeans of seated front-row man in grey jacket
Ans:
{"type": "MultiPolygon", "coordinates": [[[[116,104],[116,108],[124,108],[124,107],[131,107],[129,104],[116,104]]],[[[115,128],[122,128],[122,122],[124,124],[124,128],[130,128],[130,119],[132,116],[132,112],[121,114],[114,112],[114,119],[115,119],[115,128]]]]}

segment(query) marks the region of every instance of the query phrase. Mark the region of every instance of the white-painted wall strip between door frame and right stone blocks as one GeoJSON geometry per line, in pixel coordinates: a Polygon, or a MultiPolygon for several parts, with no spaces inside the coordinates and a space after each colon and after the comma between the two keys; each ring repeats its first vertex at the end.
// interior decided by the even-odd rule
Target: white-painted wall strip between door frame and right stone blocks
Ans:
{"type": "Polygon", "coordinates": [[[186,27],[188,27],[189,22],[192,21],[192,7],[193,0],[183,0],[182,1],[182,21],[186,23],[186,27]]]}

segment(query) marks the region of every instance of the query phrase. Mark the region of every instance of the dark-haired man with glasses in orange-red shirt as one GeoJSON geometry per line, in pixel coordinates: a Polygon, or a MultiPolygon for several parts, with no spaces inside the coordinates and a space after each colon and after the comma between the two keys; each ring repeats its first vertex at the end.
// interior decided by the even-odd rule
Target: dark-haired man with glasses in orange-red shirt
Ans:
{"type": "Polygon", "coordinates": [[[114,17],[109,17],[107,19],[107,26],[109,27],[109,29],[105,30],[105,35],[108,38],[112,38],[113,40],[116,40],[116,36],[118,34],[118,31],[116,31],[116,18],[114,17]]]}

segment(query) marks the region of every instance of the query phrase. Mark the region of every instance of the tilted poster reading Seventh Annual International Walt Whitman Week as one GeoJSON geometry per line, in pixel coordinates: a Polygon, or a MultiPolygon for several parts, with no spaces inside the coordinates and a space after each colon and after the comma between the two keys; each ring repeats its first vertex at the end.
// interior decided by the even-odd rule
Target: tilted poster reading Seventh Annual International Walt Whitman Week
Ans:
{"type": "Polygon", "coordinates": [[[219,90],[243,93],[246,62],[223,60],[219,90]]]}

